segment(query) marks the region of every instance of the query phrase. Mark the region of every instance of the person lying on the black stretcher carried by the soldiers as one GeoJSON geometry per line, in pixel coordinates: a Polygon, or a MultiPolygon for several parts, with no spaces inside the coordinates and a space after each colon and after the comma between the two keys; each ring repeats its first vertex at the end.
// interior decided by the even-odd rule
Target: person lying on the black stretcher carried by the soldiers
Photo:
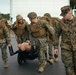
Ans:
{"type": "Polygon", "coordinates": [[[21,44],[18,44],[18,48],[19,50],[17,51],[13,51],[13,47],[9,47],[9,53],[10,53],[10,56],[13,56],[17,53],[24,53],[24,54],[28,54],[28,56],[30,55],[30,57],[33,58],[34,55],[38,56],[38,49],[39,49],[39,46],[37,45],[31,45],[30,41],[26,41],[26,42],[23,42],[21,44]]]}

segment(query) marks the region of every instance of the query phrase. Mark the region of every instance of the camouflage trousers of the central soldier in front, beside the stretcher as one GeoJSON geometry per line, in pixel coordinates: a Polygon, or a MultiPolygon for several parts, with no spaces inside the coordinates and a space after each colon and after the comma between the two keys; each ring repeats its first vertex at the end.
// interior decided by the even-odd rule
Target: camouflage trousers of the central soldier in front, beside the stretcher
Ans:
{"type": "Polygon", "coordinates": [[[39,61],[40,61],[40,64],[43,64],[45,61],[46,61],[46,56],[45,56],[45,53],[46,53],[46,39],[39,39],[39,42],[40,42],[40,49],[39,49],[39,61]]]}

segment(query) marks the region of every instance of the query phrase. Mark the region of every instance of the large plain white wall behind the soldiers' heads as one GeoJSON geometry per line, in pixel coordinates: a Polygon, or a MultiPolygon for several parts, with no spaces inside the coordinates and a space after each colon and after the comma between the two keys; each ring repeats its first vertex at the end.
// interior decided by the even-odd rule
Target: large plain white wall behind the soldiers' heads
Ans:
{"type": "Polygon", "coordinates": [[[50,13],[51,16],[60,17],[60,8],[69,5],[69,0],[11,0],[11,16],[13,21],[18,14],[21,14],[28,22],[27,14],[34,11],[38,16],[50,13]]]}

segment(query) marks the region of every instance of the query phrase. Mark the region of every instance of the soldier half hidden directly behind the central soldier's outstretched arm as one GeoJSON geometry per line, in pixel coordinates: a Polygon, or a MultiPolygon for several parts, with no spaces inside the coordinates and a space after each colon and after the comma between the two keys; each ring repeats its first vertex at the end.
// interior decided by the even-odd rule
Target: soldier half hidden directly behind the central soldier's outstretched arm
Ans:
{"type": "MultiPolygon", "coordinates": [[[[40,17],[39,19],[41,20],[46,20],[48,22],[49,25],[52,25],[52,21],[49,17],[47,16],[43,16],[43,17],[40,17]]],[[[53,39],[52,39],[52,35],[50,34],[50,32],[47,30],[47,45],[48,45],[48,49],[46,51],[46,54],[48,55],[48,62],[50,64],[53,64],[54,61],[53,61],[53,52],[52,52],[52,46],[53,46],[53,39]]]]}

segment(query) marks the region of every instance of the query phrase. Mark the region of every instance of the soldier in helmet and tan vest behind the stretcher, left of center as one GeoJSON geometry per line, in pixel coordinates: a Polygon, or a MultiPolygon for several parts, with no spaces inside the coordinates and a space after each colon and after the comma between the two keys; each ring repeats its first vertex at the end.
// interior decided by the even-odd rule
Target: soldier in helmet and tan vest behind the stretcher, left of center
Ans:
{"type": "Polygon", "coordinates": [[[21,15],[16,16],[16,21],[14,22],[12,29],[17,36],[17,43],[22,43],[27,40],[27,22],[23,19],[21,15]]]}

